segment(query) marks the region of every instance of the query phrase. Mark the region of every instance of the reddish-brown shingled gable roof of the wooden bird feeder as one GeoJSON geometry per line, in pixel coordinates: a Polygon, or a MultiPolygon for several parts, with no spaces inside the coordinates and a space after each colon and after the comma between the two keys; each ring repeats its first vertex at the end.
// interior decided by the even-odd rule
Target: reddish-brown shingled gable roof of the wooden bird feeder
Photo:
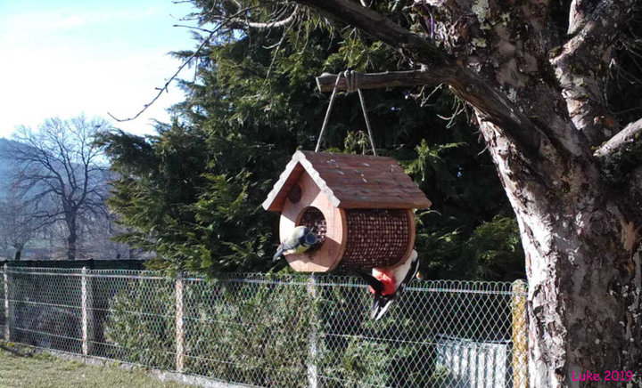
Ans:
{"type": "Polygon", "coordinates": [[[336,207],[422,209],[431,206],[424,192],[393,158],[297,151],[263,202],[263,208],[281,211],[303,171],[336,207]]]}

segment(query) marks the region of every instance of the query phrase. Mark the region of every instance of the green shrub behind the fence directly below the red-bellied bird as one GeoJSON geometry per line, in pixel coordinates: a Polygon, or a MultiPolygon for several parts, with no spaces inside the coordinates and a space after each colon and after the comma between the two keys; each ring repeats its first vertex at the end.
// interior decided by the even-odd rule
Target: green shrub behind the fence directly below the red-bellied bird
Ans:
{"type": "MultiPolygon", "coordinates": [[[[324,281],[345,284],[354,279],[324,281]]],[[[324,287],[319,301],[324,386],[432,386],[436,380],[431,327],[416,313],[416,301],[408,298],[404,308],[394,306],[383,319],[373,321],[369,293],[339,284],[324,287]]]]}

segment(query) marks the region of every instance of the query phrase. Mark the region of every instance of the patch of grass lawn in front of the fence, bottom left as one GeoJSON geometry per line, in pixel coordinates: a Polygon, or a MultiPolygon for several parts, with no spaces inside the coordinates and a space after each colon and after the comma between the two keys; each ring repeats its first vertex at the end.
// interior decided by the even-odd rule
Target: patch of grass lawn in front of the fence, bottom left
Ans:
{"type": "Polygon", "coordinates": [[[29,348],[0,344],[0,387],[13,388],[185,388],[188,385],[162,383],[142,370],[116,366],[93,366],[62,360],[29,348]]]}

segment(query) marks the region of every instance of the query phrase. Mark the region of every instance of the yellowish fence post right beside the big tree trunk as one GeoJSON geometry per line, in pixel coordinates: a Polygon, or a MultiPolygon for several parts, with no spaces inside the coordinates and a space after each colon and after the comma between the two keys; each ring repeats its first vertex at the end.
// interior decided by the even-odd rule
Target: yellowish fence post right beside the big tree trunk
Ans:
{"type": "Polygon", "coordinates": [[[526,319],[526,283],[515,280],[511,287],[513,312],[513,386],[528,388],[528,321],[526,319]]]}

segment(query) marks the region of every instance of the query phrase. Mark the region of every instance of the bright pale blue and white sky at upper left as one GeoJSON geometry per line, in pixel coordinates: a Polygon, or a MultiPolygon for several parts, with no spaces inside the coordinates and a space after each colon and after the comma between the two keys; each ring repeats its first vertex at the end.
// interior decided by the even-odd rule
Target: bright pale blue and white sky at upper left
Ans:
{"type": "MultiPolygon", "coordinates": [[[[168,53],[195,48],[173,27],[190,11],[171,0],[0,0],[0,137],[48,117],[136,115],[180,66],[168,53]]],[[[153,133],[183,96],[170,87],[136,120],[111,122],[153,133]]]]}

